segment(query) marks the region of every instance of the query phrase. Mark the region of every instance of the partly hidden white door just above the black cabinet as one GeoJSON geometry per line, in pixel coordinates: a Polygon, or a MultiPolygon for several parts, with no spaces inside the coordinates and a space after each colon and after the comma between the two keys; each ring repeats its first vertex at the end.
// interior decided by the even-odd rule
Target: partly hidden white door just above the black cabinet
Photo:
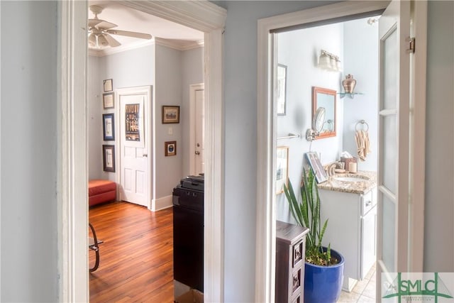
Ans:
{"type": "Polygon", "coordinates": [[[205,90],[204,84],[194,84],[190,86],[191,106],[191,175],[199,175],[205,172],[204,160],[204,126],[205,126],[205,90]]]}

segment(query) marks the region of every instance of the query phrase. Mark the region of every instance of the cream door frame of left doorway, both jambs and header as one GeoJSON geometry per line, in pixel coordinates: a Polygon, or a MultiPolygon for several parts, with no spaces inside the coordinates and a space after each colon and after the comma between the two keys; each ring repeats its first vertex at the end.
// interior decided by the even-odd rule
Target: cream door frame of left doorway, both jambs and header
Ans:
{"type": "MultiPolygon", "coordinates": [[[[209,1],[118,1],[204,32],[204,296],[223,301],[223,27],[226,9],[209,1]],[[209,102],[208,102],[209,100],[209,102]],[[215,152],[216,151],[216,152],[215,152]]],[[[88,302],[87,1],[59,1],[57,136],[58,288],[61,302],[88,302]]]]}

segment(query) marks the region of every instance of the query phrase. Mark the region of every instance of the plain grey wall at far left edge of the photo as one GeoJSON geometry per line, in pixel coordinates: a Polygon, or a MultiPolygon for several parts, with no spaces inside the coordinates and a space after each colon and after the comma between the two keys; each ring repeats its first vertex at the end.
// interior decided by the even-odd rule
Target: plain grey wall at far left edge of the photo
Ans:
{"type": "Polygon", "coordinates": [[[0,301],[57,302],[57,1],[0,7],[0,301]]]}

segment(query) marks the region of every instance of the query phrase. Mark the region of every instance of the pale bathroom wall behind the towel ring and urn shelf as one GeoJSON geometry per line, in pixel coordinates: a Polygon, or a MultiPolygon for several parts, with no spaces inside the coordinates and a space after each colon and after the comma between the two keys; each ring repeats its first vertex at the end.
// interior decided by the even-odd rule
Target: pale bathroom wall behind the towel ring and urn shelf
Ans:
{"type": "MultiPolygon", "coordinates": [[[[378,23],[370,26],[367,19],[343,23],[343,79],[345,75],[353,75],[357,80],[355,92],[362,93],[353,99],[348,96],[343,98],[343,150],[358,158],[355,125],[365,120],[369,125],[371,153],[365,161],[358,159],[358,170],[377,171],[378,23]]],[[[358,130],[365,128],[358,125],[358,130]]]]}

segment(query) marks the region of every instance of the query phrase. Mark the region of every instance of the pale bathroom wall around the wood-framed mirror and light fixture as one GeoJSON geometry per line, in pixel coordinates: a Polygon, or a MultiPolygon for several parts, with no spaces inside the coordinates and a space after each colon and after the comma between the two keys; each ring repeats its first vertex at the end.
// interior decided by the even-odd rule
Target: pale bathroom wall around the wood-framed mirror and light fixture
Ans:
{"type": "MultiPolygon", "coordinates": [[[[312,124],[312,87],[323,87],[339,92],[341,73],[328,72],[317,67],[321,50],[340,56],[343,60],[343,25],[335,23],[298,31],[279,33],[277,37],[278,63],[287,65],[287,112],[277,116],[277,137],[299,133],[302,138],[283,139],[277,146],[289,146],[289,180],[295,189],[301,182],[304,153],[315,151],[321,162],[338,160],[343,138],[343,104],[336,97],[335,137],[306,141],[306,130],[312,124]]],[[[276,197],[277,220],[294,222],[289,214],[285,194],[276,197]]]]}

